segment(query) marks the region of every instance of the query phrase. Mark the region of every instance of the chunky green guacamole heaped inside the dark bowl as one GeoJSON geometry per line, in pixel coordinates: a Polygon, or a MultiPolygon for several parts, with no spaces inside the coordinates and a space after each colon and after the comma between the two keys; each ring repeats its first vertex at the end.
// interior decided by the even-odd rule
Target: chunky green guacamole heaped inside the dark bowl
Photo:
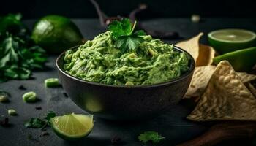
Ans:
{"type": "Polygon", "coordinates": [[[67,50],[64,70],[79,79],[108,85],[151,85],[186,72],[189,58],[151,36],[143,36],[137,50],[121,52],[107,31],[77,50],[67,50]]]}

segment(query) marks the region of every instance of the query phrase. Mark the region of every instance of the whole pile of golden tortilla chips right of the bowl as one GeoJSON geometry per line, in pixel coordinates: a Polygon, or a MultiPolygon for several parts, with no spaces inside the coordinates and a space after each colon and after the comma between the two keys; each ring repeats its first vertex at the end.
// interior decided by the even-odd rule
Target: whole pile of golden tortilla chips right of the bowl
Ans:
{"type": "Polygon", "coordinates": [[[199,44],[202,35],[177,44],[192,54],[197,66],[184,97],[196,99],[197,106],[187,119],[256,120],[256,89],[249,83],[256,75],[235,72],[227,61],[211,65],[215,51],[199,44]]]}

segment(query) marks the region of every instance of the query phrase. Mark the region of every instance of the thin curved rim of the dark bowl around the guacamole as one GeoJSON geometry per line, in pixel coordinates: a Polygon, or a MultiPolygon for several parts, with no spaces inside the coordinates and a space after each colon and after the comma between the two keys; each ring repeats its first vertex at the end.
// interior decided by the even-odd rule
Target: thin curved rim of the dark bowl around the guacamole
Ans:
{"type": "MultiPolygon", "coordinates": [[[[79,46],[80,45],[77,45],[75,47],[71,47],[68,50],[77,49],[79,46]]],[[[78,82],[83,82],[83,83],[90,84],[90,85],[97,85],[97,86],[101,86],[101,87],[112,87],[112,88],[153,88],[153,87],[165,86],[165,85],[170,85],[170,84],[179,82],[181,80],[184,80],[184,78],[186,78],[187,76],[189,76],[189,74],[192,74],[192,72],[194,72],[195,59],[192,57],[192,55],[189,54],[186,50],[183,50],[180,47],[177,47],[176,45],[173,45],[173,49],[178,50],[179,52],[184,52],[187,55],[189,55],[189,58],[190,58],[190,61],[191,61],[190,66],[189,66],[189,70],[187,72],[185,72],[184,74],[181,74],[181,76],[173,78],[173,80],[170,80],[170,81],[167,81],[167,82],[159,82],[157,84],[151,84],[151,85],[108,85],[108,84],[102,84],[102,83],[98,83],[98,82],[90,82],[90,81],[79,79],[78,77],[75,77],[75,76],[72,76],[71,74],[68,74],[67,72],[64,71],[64,69],[62,69],[63,67],[59,66],[59,62],[61,61],[62,56],[67,52],[67,50],[65,50],[63,53],[61,53],[58,56],[58,58],[56,59],[56,66],[57,66],[57,69],[59,70],[59,72],[61,72],[65,76],[71,78],[72,80],[76,80],[78,82]]]]}

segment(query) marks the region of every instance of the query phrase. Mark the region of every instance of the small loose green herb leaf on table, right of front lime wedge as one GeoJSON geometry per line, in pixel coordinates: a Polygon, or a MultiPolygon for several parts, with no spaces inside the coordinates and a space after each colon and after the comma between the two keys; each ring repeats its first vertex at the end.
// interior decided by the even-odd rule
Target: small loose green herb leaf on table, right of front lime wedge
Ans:
{"type": "Polygon", "coordinates": [[[143,134],[140,134],[138,136],[138,139],[140,140],[140,142],[146,143],[146,142],[154,142],[154,143],[158,143],[160,142],[162,139],[165,139],[165,137],[162,137],[160,134],[158,134],[155,131],[146,131],[143,134]]]}

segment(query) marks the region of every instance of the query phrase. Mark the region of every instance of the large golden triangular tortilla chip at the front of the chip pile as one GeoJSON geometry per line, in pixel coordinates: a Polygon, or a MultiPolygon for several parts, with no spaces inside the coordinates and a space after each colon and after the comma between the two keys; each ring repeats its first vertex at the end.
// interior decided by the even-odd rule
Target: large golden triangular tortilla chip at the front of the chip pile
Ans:
{"type": "Polygon", "coordinates": [[[256,99],[227,61],[221,61],[189,120],[256,120],[256,99]]]}

